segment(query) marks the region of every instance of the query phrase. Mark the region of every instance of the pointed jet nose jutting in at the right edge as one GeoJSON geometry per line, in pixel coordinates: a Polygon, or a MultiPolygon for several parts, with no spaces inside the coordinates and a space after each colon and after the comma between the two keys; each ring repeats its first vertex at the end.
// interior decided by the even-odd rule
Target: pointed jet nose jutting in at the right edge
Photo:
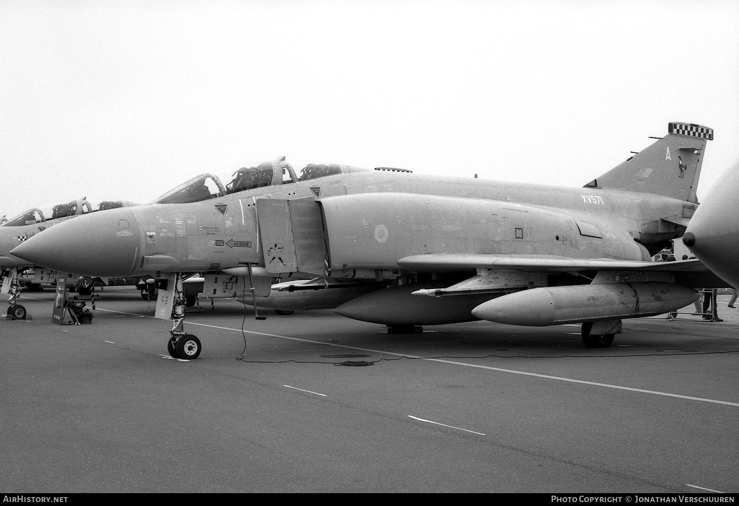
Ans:
{"type": "Polygon", "coordinates": [[[739,161],[719,181],[690,220],[683,242],[721,279],[739,287],[739,161]]]}

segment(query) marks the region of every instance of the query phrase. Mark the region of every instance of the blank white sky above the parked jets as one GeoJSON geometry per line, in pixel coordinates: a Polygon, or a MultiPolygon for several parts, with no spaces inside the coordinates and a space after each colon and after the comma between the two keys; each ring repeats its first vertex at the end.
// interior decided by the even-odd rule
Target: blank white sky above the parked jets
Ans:
{"type": "Polygon", "coordinates": [[[582,186],[669,121],[739,159],[735,0],[2,0],[0,215],[287,156],[582,186]]]}

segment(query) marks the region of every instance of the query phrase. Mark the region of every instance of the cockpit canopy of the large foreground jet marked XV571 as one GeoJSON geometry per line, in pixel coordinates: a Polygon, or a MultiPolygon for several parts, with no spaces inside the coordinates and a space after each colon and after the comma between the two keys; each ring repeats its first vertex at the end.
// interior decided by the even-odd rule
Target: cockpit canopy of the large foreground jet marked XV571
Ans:
{"type": "Polygon", "coordinates": [[[296,183],[358,170],[355,167],[338,165],[338,163],[302,163],[301,165],[303,168],[296,173],[283,157],[276,161],[243,166],[235,171],[227,169],[213,174],[201,174],[165,193],[154,200],[154,203],[198,202],[262,186],[296,183]],[[224,181],[228,183],[224,184],[224,181]]]}

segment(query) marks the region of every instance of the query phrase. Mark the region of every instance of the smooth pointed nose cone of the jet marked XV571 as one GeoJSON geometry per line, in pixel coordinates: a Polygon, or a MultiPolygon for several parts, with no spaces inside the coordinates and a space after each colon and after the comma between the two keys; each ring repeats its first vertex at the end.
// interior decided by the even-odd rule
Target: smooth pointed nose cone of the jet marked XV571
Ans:
{"type": "Polygon", "coordinates": [[[69,274],[126,276],[136,266],[140,235],[129,209],[110,209],[66,220],[21,243],[12,254],[69,274]]]}

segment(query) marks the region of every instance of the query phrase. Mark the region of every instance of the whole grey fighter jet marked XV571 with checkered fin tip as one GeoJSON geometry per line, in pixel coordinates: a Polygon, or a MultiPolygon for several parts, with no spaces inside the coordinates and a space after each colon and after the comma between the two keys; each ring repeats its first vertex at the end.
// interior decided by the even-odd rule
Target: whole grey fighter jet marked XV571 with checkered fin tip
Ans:
{"type": "Polygon", "coordinates": [[[476,319],[582,323],[585,345],[600,348],[624,318],[675,311],[698,298],[695,287],[725,286],[699,260],[651,261],[698,207],[712,138],[707,127],[670,123],[582,188],[281,158],[62,223],[13,254],[82,274],[154,272],[166,286],[157,315],[174,320],[168,351],[183,359],[201,351],[183,329],[183,278],[193,273],[202,293],[254,306],[273,277],[351,280],[335,311],[389,332],[476,319]],[[356,283],[384,286],[358,294],[356,283]]]}

